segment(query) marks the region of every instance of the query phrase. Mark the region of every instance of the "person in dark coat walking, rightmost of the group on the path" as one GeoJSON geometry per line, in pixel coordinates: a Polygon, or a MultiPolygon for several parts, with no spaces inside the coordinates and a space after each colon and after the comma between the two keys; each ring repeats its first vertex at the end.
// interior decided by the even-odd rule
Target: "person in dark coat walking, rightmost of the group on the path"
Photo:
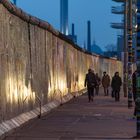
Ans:
{"type": "Polygon", "coordinates": [[[111,87],[115,93],[115,101],[120,101],[120,89],[122,85],[122,79],[119,76],[119,72],[115,72],[115,75],[112,78],[111,87]]]}

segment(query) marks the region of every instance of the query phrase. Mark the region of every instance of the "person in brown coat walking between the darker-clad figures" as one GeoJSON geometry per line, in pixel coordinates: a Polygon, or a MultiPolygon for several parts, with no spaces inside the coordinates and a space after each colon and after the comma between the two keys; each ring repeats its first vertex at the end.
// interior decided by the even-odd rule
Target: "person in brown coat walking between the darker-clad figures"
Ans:
{"type": "Polygon", "coordinates": [[[102,85],[104,88],[104,95],[108,96],[109,94],[108,88],[110,86],[110,77],[106,72],[103,72],[102,85]]]}

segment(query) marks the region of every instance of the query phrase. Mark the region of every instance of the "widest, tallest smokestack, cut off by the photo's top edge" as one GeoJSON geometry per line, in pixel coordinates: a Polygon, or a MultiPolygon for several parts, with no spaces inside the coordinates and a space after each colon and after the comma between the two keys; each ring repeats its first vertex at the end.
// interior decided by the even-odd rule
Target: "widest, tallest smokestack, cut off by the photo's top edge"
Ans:
{"type": "Polygon", "coordinates": [[[60,31],[68,35],[68,0],[60,0],[60,31]]]}

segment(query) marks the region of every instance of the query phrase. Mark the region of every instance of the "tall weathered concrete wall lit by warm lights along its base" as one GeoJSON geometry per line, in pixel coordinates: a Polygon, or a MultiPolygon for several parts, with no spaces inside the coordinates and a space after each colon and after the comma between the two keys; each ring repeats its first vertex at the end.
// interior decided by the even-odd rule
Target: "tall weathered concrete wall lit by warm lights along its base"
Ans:
{"type": "Polygon", "coordinates": [[[0,121],[84,89],[89,67],[111,76],[121,62],[84,52],[49,23],[0,1],[0,121]]]}

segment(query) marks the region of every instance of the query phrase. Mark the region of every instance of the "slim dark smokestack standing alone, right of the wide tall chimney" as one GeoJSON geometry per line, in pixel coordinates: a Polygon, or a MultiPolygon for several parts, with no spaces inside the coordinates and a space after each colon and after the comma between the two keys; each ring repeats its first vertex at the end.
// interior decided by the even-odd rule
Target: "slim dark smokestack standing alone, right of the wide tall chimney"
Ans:
{"type": "Polygon", "coordinates": [[[91,23],[87,22],[87,49],[91,52],[91,23]]]}

